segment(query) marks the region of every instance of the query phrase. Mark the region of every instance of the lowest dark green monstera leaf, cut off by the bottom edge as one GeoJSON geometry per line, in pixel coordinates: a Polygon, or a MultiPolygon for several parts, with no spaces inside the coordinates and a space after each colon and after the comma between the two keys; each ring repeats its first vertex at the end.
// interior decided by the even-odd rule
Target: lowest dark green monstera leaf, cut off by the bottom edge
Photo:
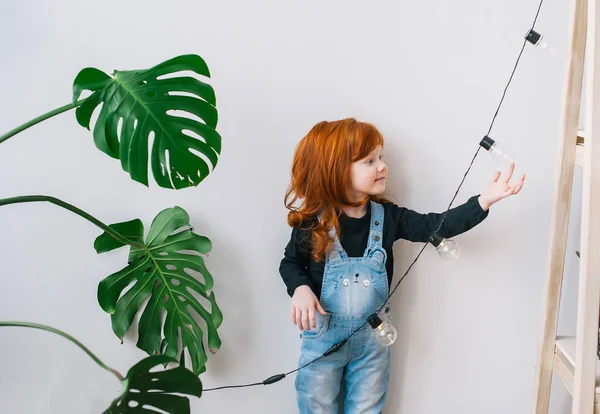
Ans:
{"type": "Polygon", "coordinates": [[[202,395],[202,382],[183,366],[150,372],[159,365],[174,362],[164,355],[147,357],[135,364],[123,380],[124,391],[104,414],[189,414],[190,400],[177,394],[202,395]]]}

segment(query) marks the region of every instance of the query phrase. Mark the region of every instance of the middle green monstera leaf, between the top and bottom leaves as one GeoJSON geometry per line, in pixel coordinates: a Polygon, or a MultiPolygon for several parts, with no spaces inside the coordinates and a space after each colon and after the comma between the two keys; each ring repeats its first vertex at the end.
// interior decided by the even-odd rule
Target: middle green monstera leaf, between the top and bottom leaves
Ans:
{"type": "MultiPolygon", "coordinates": [[[[109,227],[129,240],[143,240],[144,229],[139,220],[109,227]]],[[[121,242],[106,233],[94,243],[98,253],[120,246],[123,246],[121,242]]],[[[194,373],[204,372],[207,356],[203,332],[194,320],[194,312],[206,322],[208,348],[213,353],[221,346],[217,329],[223,321],[211,290],[213,278],[202,257],[211,247],[208,238],[192,231],[184,209],[173,207],[160,212],[150,226],[145,247],[132,247],[127,266],[98,286],[98,301],[102,309],[112,315],[115,334],[123,338],[135,315],[141,311],[142,303],[148,299],[138,325],[137,346],[149,355],[177,357],[180,355],[178,338],[181,337],[182,347],[190,354],[194,373]],[[194,277],[197,274],[204,280],[197,280],[194,277]],[[194,293],[203,297],[205,303],[210,303],[211,309],[205,309],[194,293]],[[164,326],[163,311],[166,312],[164,326]]]]}

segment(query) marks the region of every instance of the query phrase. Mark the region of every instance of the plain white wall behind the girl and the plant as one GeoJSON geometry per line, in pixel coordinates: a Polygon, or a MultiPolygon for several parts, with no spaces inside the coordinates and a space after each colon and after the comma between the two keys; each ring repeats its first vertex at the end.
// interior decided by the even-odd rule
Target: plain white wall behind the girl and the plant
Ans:
{"type": "MultiPolygon", "coordinates": [[[[568,2],[546,0],[537,28],[557,49],[528,47],[493,137],[519,154],[526,186],[458,238],[455,263],[429,248],[394,297],[387,413],[529,413],[553,191],[568,2]]],[[[225,321],[205,387],[295,367],[299,338],[278,274],[289,237],[282,198],[293,150],[316,122],[354,116],[387,139],[390,193],[443,210],[486,133],[537,1],[2,2],[0,131],[66,104],[77,72],[206,59],[223,152],[185,191],[147,189],[100,153],[68,113],[0,147],[0,197],[49,194],[106,223],[187,209],[214,243],[207,264],[225,321]]],[[[530,45],[529,45],[530,46],[530,45]]],[[[483,189],[482,153],[458,201],[483,189]]],[[[2,208],[0,319],[61,328],[125,373],[123,345],[96,302],[125,251],[98,256],[99,230],[52,205],[2,208]]],[[[400,276],[420,245],[397,244],[400,276]]],[[[0,330],[0,412],[98,413],[119,384],[62,338],[0,330]],[[67,404],[68,402],[68,404],[67,404]]],[[[206,393],[193,412],[295,412],[294,378],[206,393]]],[[[554,401],[566,411],[564,396],[554,401]]],[[[558,411],[557,411],[558,412],[558,411]]]]}

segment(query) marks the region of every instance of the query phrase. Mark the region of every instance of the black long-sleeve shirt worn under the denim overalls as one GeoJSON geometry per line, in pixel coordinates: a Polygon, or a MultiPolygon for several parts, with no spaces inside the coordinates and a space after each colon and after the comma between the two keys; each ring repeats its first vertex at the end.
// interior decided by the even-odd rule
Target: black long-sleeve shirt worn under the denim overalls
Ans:
{"type": "MultiPolygon", "coordinates": [[[[483,211],[477,197],[473,196],[466,203],[450,209],[438,234],[442,237],[454,237],[481,223],[489,211],[483,211]]],[[[387,252],[385,266],[388,284],[391,284],[394,270],[392,251],[394,242],[398,239],[427,242],[438,227],[443,214],[420,214],[393,203],[382,203],[382,205],[384,209],[382,243],[387,252]]],[[[339,220],[342,247],[350,257],[363,256],[369,238],[371,203],[367,203],[367,213],[363,217],[353,218],[342,213],[339,220]]],[[[290,296],[301,285],[308,285],[317,297],[321,296],[325,261],[315,262],[310,253],[311,231],[307,228],[311,227],[311,224],[313,223],[305,223],[303,228],[292,229],[291,239],[279,265],[279,273],[290,296]]]]}

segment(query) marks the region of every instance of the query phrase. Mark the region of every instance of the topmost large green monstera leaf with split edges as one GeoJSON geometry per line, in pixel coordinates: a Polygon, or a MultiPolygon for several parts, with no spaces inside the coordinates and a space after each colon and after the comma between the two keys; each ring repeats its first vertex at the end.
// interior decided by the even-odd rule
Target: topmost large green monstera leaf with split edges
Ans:
{"type": "Polygon", "coordinates": [[[102,103],[94,126],[96,146],[111,157],[120,158],[131,178],[145,185],[152,133],[150,165],[161,187],[198,185],[211,167],[214,169],[221,152],[221,137],[215,130],[214,90],[194,77],[173,75],[181,71],[210,77],[200,56],[183,55],[150,69],[115,71],[113,77],[86,68],[73,83],[73,102],[83,91],[93,92],[77,108],[79,124],[89,129],[92,113],[102,103]],[[165,75],[174,77],[158,79],[165,75]],[[194,115],[202,122],[167,113],[172,110],[194,115]]]}

